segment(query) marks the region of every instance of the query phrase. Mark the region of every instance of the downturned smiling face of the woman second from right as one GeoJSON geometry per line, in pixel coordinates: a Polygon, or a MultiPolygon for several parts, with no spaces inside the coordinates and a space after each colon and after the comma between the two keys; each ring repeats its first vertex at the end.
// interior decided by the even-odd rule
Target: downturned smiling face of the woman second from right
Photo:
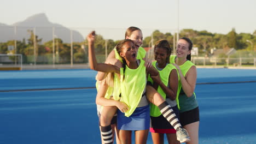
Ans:
{"type": "Polygon", "coordinates": [[[170,55],[167,54],[167,50],[162,47],[156,47],[155,48],[155,60],[158,62],[159,68],[164,68],[167,61],[167,57],[170,57],[170,55]]]}

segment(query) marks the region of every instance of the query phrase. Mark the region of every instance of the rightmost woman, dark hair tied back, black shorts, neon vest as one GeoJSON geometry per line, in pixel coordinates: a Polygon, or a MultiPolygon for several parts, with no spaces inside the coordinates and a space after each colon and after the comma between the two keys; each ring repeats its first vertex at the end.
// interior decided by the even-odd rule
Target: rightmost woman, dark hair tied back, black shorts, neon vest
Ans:
{"type": "Polygon", "coordinates": [[[170,57],[170,62],[178,69],[178,107],[182,127],[188,131],[191,141],[187,144],[197,144],[199,139],[199,106],[194,93],[196,86],[196,66],[191,60],[193,43],[188,38],[178,41],[176,56],[170,57]]]}

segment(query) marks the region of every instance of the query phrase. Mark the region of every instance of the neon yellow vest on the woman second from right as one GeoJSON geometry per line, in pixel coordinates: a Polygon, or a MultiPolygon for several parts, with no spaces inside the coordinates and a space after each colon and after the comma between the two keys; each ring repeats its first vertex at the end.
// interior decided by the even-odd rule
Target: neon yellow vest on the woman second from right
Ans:
{"type": "MultiPolygon", "coordinates": [[[[152,62],[152,65],[156,68],[156,61],[152,62]]],[[[162,83],[164,83],[165,86],[168,86],[169,76],[170,76],[172,69],[176,69],[176,67],[172,64],[167,64],[164,69],[159,70],[159,75],[160,75],[161,81],[162,81],[162,83]]],[[[148,77],[148,81],[153,83],[153,80],[151,79],[150,76],[148,77]]],[[[160,86],[158,86],[158,92],[162,95],[162,97],[164,99],[166,99],[166,94],[160,86]]],[[[158,106],[150,103],[150,116],[158,117],[160,115],[161,115],[161,112],[160,112],[158,106]]]]}

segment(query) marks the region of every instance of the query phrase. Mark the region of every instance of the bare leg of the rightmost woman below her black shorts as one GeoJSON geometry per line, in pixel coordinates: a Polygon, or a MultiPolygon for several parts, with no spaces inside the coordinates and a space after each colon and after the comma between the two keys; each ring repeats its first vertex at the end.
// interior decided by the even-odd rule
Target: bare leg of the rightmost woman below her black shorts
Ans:
{"type": "Polygon", "coordinates": [[[187,144],[198,144],[199,122],[184,125],[184,128],[187,129],[188,134],[191,138],[191,141],[187,142],[187,144]]]}

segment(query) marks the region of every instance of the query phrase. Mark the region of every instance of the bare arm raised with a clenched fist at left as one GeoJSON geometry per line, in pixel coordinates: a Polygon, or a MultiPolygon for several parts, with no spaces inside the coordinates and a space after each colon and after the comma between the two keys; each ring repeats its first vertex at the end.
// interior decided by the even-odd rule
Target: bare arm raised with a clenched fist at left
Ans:
{"type": "Polygon", "coordinates": [[[120,73],[120,68],[115,65],[105,64],[105,63],[97,63],[97,59],[94,51],[94,40],[95,40],[95,32],[91,32],[88,37],[88,49],[89,49],[89,63],[90,68],[97,71],[102,71],[105,73],[120,73]]]}

